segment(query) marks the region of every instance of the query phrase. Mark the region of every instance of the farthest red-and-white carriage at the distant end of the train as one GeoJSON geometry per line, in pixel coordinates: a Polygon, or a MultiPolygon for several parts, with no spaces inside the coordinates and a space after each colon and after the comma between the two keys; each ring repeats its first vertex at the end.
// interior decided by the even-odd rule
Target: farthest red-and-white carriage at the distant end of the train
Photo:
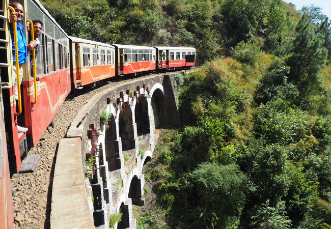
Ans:
{"type": "Polygon", "coordinates": [[[196,49],[191,47],[156,46],[156,68],[183,68],[196,65],[196,49]]]}

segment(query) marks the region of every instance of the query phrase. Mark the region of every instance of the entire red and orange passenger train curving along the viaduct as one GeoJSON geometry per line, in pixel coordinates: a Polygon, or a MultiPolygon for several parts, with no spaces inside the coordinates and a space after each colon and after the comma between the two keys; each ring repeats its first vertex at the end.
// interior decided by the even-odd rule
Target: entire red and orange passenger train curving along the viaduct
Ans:
{"type": "Polygon", "coordinates": [[[39,54],[35,60],[35,71],[39,81],[31,77],[33,70],[30,62],[23,64],[23,82],[18,101],[21,106],[17,108],[14,95],[12,39],[8,22],[9,0],[1,1],[0,74],[3,109],[0,116],[0,131],[5,132],[0,132],[0,209],[8,211],[0,211],[0,227],[3,226],[3,222],[11,227],[11,223],[8,222],[12,221],[12,213],[7,206],[11,205],[11,200],[3,195],[8,194],[10,187],[9,171],[10,174],[20,171],[22,159],[27,151],[36,146],[72,90],[81,89],[85,85],[95,85],[100,80],[110,77],[185,68],[196,64],[195,48],[104,44],[69,37],[38,0],[19,2],[25,11],[22,21],[25,37],[28,37],[27,19],[38,19],[43,22],[43,31],[39,37],[39,54]],[[27,132],[18,133],[18,125],[27,127],[27,132]]]}

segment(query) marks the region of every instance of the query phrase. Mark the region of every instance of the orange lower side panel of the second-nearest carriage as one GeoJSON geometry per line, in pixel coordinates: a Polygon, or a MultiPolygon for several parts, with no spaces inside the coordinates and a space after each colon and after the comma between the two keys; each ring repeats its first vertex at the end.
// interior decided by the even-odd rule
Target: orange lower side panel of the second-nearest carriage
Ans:
{"type": "Polygon", "coordinates": [[[83,67],[79,71],[81,74],[81,85],[87,85],[115,76],[115,65],[83,67]]]}

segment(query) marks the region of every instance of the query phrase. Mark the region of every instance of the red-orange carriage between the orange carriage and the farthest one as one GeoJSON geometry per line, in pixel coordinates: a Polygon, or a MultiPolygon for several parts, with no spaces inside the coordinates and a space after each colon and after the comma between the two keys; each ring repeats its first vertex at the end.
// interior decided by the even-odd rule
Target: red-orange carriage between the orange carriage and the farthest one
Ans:
{"type": "Polygon", "coordinates": [[[156,50],[148,46],[112,44],[116,48],[117,75],[155,70],[156,50]]]}

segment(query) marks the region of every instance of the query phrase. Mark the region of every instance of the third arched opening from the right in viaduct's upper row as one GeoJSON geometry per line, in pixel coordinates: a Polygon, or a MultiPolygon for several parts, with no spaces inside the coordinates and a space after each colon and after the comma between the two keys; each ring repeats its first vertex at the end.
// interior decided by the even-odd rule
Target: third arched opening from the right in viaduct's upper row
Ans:
{"type": "Polygon", "coordinates": [[[122,150],[131,150],[135,147],[133,123],[132,123],[132,112],[129,106],[121,108],[119,117],[119,131],[122,139],[122,150]]]}

